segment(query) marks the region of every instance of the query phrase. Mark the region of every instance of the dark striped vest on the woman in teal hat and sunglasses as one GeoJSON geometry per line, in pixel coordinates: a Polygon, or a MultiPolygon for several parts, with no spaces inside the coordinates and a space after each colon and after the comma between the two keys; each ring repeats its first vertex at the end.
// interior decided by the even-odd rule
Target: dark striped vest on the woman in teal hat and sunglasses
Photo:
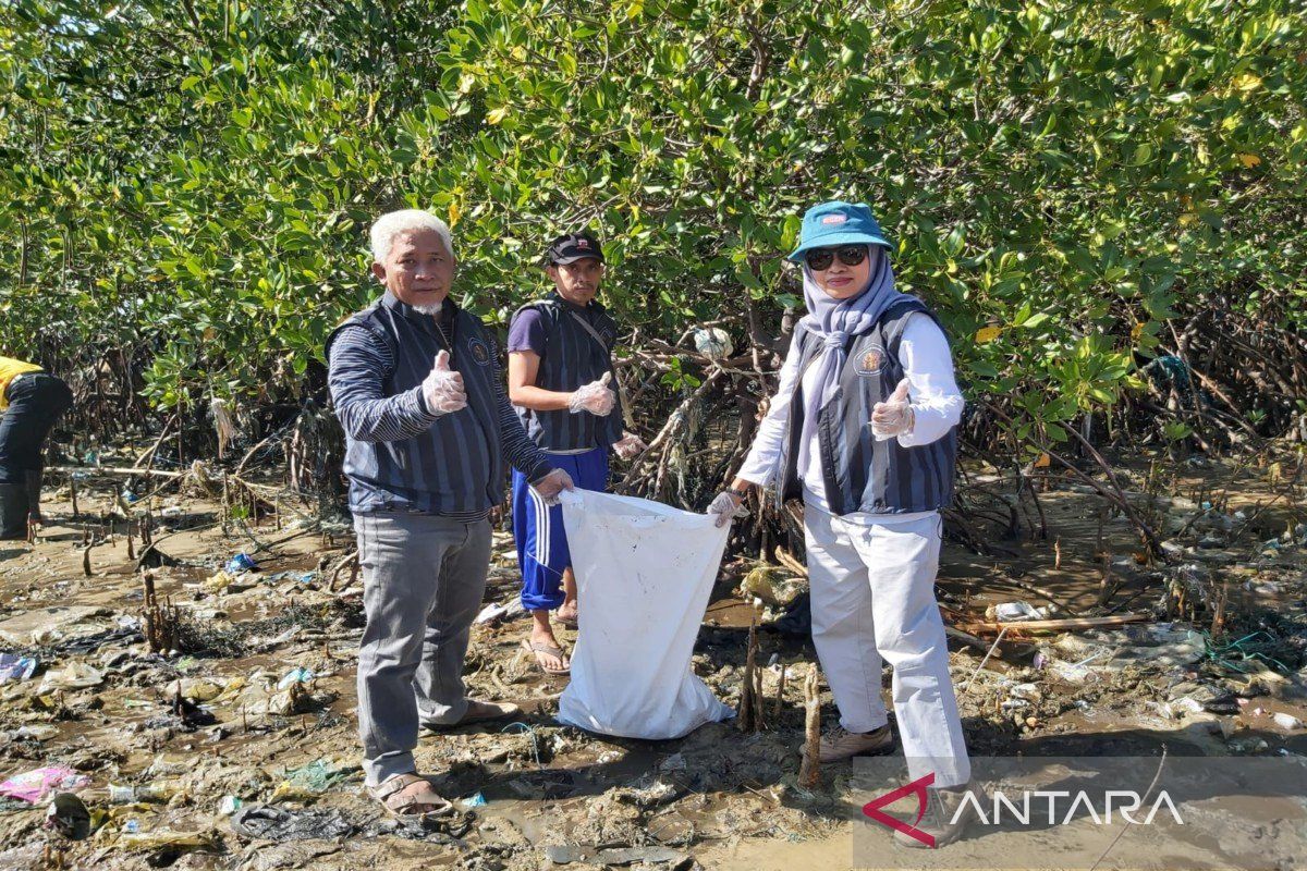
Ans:
{"type": "MultiPolygon", "coordinates": [[[[850,340],[839,390],[817,418],[826,501],[835,515],[906,515],[938,511],[953,501],[957,427],[942,439],[915,448],[899,447],[898,439],[877,441],[872,435],[872,407],[893,393],[903,379],[899,341],[915,312],[940,323],[924,303],[914,299],[891,306],[874,328],[850,340]]],[[[789,430],[780,449],[779,503],[802,498],[796,467],[804,420],[802,372],[822,350],[822,343],[801,324],[796,328],[795,342],[800,375],[789,406],[789,430]]]]}

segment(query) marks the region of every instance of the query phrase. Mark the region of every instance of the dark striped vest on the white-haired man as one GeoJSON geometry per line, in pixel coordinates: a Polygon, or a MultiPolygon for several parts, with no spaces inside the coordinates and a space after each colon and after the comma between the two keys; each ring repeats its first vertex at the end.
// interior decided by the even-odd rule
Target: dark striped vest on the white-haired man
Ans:
{"type": "Polygon", "coordinates": [[[349,478],[349,508],[354,513],[410,511],[429,515],[460,515],[488,511],[503,501],[505,464],[494,390],[494,337],[481,320],[455,306],[452,349],[435,326],[435,319],[420,315],[386,293],[372,306],[350,316],[327,338],[345,326],[363,326],[386,342],[395,360],[386,373],[386,396],[410,390],[431,372],[435,355],[450,350],[450,367],[463,373],[467,407],[443,414],[422,435],[399,441],[345,440],[342,470],[349,478]]]}

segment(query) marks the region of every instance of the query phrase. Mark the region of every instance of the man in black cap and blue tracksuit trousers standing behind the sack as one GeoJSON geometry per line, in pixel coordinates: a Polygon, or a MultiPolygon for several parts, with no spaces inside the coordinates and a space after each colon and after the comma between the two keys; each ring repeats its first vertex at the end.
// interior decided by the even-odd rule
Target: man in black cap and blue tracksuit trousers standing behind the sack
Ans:
{"type": "MultiPolygon", "coordinates": [[[[554,293],[518,309],[508,326],[508,398],[554,466],[566,469],[578,487],[605,490],[609,448],[630,457],[644,443],[622,431],[613,371],[617,323],[595,300],[604,251],[592,234],[582,231],[554,239],[546,257],[554,293]]],[[[521,605],[533,619],[531,639],[523,645],[544,671],[566,674],[567,656],[549,623],[555,609],[565,624],[576,620],[576,581],[562,511],[545,504],[516,471],[512,531],[521,605]]]]}

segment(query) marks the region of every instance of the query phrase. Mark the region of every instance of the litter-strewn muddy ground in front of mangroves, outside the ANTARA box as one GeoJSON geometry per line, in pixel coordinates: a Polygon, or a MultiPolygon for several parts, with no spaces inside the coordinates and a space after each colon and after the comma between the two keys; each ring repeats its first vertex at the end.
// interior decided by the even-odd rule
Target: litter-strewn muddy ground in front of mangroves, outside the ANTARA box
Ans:
{"type": "MultiPolygon", "coordinates": [[[[950,526],[940,590],[949,622],[983,641],[950,641],[971,752],[1307,753],[1295,722],[1307,720],[1300,460],[1133,465],[1120,483],[1170,564],[1149,560],[1131,524],[1084,484],[1050,477],[1035,505],[996,470],[968,469],[967,529],[950,526]],[[1040,512],[1047,538],[1033,534],[1040,512]],[[987,610],[1018,601],[1044,618],[1146,619],[1010,631],[980,667],[995,639],[987,610]]],[[[47,824],[44,802],[0,799],[0,868],[848,866],[859,819],[850,765],[825,767],[814,790],[797,784],[814,656],[802,635],[771,623],[802,588],[792,572],[754,575],[741,597],[752,564],[725,567],[694,657],[708,686],[738,704],[748,626],[762,620],[759,733],[727,722],[639,742],[561,726],[565,683],[518,648],[521,614],[478,624],[471,693],[518,703],[525,716],[425,734],[418,764],[457,812],[400,824],[361,791],[362,614],[342,564],[348,524],[320,522],[288,499],[280,517],[233,521],[223,534],[221,501],[193,488],[154,481],[156,495],[128,503],[122,477],[85,469],[76,483],[76,518],[67,475],[54,475],[37,543],[0,548],[0,652],[38,661],[31,676],[0,684],[0,777],[52,765],[84,776],[76,793],[90,819],[74,834],[88,837],[63,831],[78,824],[78,807],[61,808],[60,827],[47,824]],[[129,555],[124,512],[146,505],[159,528],[139,567],[142,545],[133,538],[129,555]],[[89,563],[88,534],[105,537],[89,563]],[[257,571],[221,573],[238,552],[257,571]],[[174,649],[162,653],[142,637],[145,572],[179,614],[174,649]],[[759,593],[778,603],[745,601],[759,593]],[[114,789],[132,786],[144,789],[114,789]]],[[[486,603],[508,605],[516,590],[511,539],[497,534],[486,603]]],[[[822,703],[834,722],[829,692],[822,703]]]]}

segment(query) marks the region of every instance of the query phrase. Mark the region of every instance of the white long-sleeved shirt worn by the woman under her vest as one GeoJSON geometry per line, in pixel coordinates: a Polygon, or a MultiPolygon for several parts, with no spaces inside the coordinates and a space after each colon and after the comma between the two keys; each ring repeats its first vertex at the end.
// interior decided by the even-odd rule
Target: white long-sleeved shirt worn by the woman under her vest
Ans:
{"type": "MultiPolygon", "coordinates": [[[[789,400],[795,392],[795,380],[799,377],[799,350],[791,343],[786,362],[780,367],[780,384],[776,388],[776,394],[771,397],[767,415],[758,426],[758,435],[749,456],[745,457],[744,465],[736,473],[736,477],[744,481],[765,487],[771,483],[775,475],[776,460],[780,457],[780,447],[789,426],[789,400]]],[[[912,430],[898,436],[898,443],[903,448],[912,448],[938,441],[962,419],[963,406],[962,392],[953,375],[953,355],[949,353],[949,342],[944,337],[944,332],[929,317],[920,313],[911,315],[899,340],[898,359],[910,384],[908,401],[915,417],[912,430]]],[[[817,366],[809,366],[808,371],[804,372],[802,390],[805,397],[816,394],[817,370],[817,366]]],[[[821,462],[816,460],[821,456],[816,427],[813,427],[812,440],[808,445],[808,456],[814,457],[814,460],[808,464],[804,473],[804,504],[830,513],[821,462]]],[[[933,513],[936,512],[906,515],[852,512],[844,515],[844,520],[860,524],[898,524],[920,520],[933,513]]]]}

